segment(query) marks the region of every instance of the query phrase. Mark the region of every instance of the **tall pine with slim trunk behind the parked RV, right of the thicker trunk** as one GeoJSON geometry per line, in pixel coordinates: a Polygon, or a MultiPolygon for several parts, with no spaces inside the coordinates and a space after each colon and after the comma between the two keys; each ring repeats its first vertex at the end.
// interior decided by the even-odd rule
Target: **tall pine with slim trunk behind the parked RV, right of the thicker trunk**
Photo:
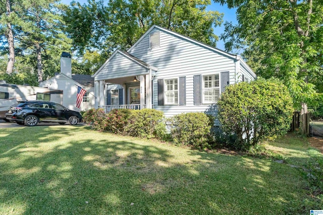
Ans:
{"type": "Polygon", "coordinates": [[[54,49],[58,52],[53,54],[59,55],[62,50],[71,48],[71,41],[63,32],[61,6],[56,2],[24,1],[23,13],[19,15],[24,21],[23,25],[19,26],[20,48],[25,53],[35,54],[39,83],[43,81],[43,60],[48,58],[49,50],[54,49]]]}

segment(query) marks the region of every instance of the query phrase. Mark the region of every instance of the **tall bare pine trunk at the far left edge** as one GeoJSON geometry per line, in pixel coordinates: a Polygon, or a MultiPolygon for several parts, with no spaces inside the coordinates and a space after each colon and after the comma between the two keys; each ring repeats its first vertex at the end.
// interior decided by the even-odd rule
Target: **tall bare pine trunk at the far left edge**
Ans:
{"type": "MultiPolygon", "coordinates": [[[[9,17],[11,14],[10,0],[7,0],[6,7],[7,7],[7,16],[9,17]]],[[[7,23],[6,38],[8,40],[8,46],[9,46],[9,60],[8,60],[6,73],[12,74],[14,70],[14,63],[15,63],[15,44],[14,44],[14,35],[12,33],[11,23],[9,22],[7,23]]]]}

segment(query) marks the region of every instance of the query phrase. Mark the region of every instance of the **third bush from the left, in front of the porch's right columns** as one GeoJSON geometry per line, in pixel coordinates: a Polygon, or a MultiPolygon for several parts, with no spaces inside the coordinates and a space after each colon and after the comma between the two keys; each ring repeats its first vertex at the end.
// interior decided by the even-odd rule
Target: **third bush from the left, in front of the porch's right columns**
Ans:
{"type": "Polygon", "coordinates": [[[164,113],[155,109],[134,110],[130,114],[126,132],[131,136],[160,138],[166,132],[163,118],[164,113]]]}

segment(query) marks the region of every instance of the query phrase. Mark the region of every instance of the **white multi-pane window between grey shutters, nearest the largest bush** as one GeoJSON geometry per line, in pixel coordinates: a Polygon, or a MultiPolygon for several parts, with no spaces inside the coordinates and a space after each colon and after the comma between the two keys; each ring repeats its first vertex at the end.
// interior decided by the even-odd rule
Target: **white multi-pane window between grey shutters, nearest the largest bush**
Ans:
{"type": "Polygon", "coordinates": [[[217,103],[220,98],[220,75],[203,76],[203,103],[217,103]]]}

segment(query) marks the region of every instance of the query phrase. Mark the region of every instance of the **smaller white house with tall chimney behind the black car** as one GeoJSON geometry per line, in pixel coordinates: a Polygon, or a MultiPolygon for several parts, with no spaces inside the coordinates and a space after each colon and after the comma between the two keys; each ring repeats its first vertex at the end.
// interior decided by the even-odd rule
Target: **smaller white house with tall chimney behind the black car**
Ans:
{"type": "Polygon", "coordinates": [[[63,105],[71,110],[86,111],[94,108],[94,79],[89,75],[72,74],[70,53],[63,52],[61,55],[61,73],[41,82],[39,86],[63,90],[63,105]],[[76,107],[78,86],[86,90],[80,108],[76,107]]]}

